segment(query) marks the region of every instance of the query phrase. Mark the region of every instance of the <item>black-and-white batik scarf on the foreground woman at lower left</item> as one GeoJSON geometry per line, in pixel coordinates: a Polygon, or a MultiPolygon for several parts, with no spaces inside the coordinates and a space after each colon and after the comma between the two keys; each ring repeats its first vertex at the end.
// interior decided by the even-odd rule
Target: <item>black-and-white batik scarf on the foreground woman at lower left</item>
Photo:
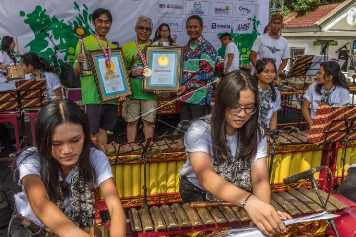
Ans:
{"type": "Polygon", "coordinates": [[[80,172],[79,164],[75,164],[72,168],[70,187],[65,180],[61,181],[60,184],[59,194],[62,198],[56,202],[59,209],[65,213],[64,199],[69,196],[69,219],[81,229],[93,226],[95,215],[94,197],[92,190],[80,172]]]}

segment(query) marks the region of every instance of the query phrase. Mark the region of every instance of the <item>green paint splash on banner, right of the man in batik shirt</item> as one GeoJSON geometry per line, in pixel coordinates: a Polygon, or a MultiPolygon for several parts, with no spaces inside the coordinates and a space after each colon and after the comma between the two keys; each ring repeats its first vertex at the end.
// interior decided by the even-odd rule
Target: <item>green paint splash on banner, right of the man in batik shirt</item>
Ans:
{"type": "MultiPolygon", "coordinates": [[[[248,59],[248,55],[250,54],[252,44],[255,42],[257,36],[260,35],[258,33],[257,28],[260,25],[260,21],[254,18],[247,18],[247,20],[251,20],[253,22],[253,31],[251,34],[236,34],[233,33],[234,29],[231,29],[231,37],[233,41],[237,44],[238,51],[240,52],[241,63],[248,64],[250,60],[248,59]]],[[[220,37],[223,33],[218,33],[218,37],[220,37]]],[[[226,47],[222,45],[220,49],[218,49],[218,56],[222,58],[225,56],[226,47]]]]}

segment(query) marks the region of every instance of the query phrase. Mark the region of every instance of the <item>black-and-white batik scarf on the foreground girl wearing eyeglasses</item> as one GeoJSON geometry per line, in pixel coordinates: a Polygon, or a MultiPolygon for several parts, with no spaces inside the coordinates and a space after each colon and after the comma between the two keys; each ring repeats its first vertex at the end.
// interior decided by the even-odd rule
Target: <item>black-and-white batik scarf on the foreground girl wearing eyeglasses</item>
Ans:
{"type": "MultiPolygon", "coordinates": [[[[217,161],[214,159],[214,172],[238,188],[246,190],[247,192],[252,192],[251,161],[244,161],[241,159],[242,144],[240,141],[242,141],[242,136],[238,131],[235,136],[237,136],[235,155],[232,155],[230,143],[227,142],[226,149],[228,150],[231,159],[227,161],[217,161]]],[[[222,201],[209,192],[206,192],[206,199],[210,201],[222,201]]]]}

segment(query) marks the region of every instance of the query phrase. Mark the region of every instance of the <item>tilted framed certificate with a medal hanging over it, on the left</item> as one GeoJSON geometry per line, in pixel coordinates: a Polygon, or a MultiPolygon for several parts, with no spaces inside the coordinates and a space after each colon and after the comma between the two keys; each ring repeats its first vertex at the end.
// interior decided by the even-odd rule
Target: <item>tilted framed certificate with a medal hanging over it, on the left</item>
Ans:
{"type": "Polygon", "coordinates": [[[129,74],[121,49],[111,49],[110,68],[102,50],[88,51],[101,103],[118,101],[122,95],[132,95],[129,74]]]}

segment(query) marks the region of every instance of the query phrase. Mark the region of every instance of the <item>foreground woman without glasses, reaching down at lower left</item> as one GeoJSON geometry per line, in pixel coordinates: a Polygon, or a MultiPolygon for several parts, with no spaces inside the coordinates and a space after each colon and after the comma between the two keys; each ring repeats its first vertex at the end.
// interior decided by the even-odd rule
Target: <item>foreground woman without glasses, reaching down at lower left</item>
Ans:
{"type": "MultiPolygon", "coordinates": [[[[37,117],[35,142],[13,164],[22,187],[15,212],[56,236],[89,237],[84,230],[95,224],[93,188],[99,187],[111,218],[110,236],[125,236],[110,164],[90,140],[84,111],[66,99],[48,103],[37,117]]],[[[32,234],[16,221],[11,232],[12,237],[32,234]]]]}

